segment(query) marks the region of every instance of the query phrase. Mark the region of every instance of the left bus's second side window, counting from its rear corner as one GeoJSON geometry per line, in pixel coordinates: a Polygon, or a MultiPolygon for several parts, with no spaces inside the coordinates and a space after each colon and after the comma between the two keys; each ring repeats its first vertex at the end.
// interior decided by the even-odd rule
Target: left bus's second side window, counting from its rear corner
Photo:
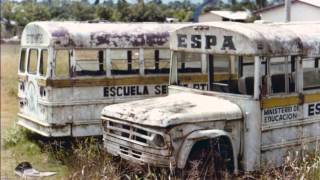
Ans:
{"type": "Polygon", "coordinates": [[[103,50],[75,50],[77,76],[105,75],[103,50]]]}

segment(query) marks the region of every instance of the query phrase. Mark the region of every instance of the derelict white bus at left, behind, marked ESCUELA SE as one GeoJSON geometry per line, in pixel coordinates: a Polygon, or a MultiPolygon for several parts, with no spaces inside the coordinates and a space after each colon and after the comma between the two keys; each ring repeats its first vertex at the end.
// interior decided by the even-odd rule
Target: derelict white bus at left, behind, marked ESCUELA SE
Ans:
{"type": "MultiPolygon", "coordinates": [[[[43,136],[102,135],[106,105],[167,93],[169,31],[180,26],[28,24],[21,40],[18,124],[43,136]]],[[[194,73],[181,72],[192,84],[194,73]]]]}

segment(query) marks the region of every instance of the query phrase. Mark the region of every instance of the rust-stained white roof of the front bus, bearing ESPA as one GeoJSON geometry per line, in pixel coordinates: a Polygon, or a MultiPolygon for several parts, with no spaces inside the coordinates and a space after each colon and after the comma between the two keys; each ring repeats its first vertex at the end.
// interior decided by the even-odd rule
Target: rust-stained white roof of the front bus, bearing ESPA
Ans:
{"type": "Polygon", "coordinates": [[[215,54],[320,57],[320,22],[186,25],[171,32],[170,47],[215,54]]]}

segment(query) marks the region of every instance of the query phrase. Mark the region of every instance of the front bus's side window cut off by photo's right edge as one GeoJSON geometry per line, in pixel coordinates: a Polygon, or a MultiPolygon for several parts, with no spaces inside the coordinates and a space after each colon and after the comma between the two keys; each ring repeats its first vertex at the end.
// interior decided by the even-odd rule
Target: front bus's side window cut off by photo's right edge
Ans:
{"type": "Polygon", "coordinates": [[[303,59],[303,90],[320,88],[319,58],[303,59]]]}

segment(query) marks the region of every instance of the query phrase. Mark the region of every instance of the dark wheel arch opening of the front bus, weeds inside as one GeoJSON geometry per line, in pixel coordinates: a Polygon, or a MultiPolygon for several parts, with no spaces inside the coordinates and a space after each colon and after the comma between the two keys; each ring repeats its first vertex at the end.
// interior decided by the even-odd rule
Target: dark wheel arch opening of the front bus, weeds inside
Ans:
{"type": "Polygon", "coordinates": [[[196,143],[183,169],[183,179],[227,179],[224,158],[215,140],[196,143]]]}

